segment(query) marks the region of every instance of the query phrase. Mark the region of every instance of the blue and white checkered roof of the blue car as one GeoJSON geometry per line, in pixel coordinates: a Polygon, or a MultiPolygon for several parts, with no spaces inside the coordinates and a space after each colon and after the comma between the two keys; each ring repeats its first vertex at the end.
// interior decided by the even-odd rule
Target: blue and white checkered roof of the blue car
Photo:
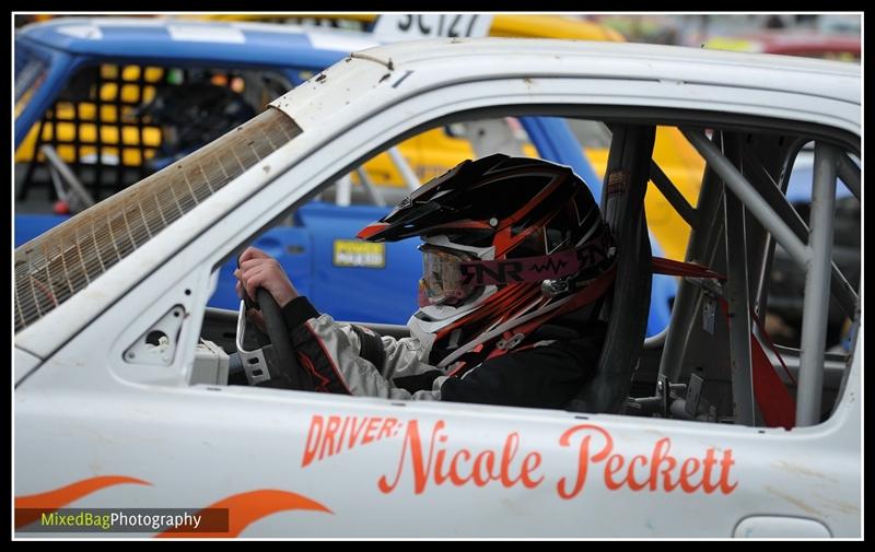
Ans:
{"type": "Polygon", "coordinates": [[[22,27],[16,39],[107,58],[323,67],[380,44],[357,31],[172,17],[62,17],[22,27]]]}

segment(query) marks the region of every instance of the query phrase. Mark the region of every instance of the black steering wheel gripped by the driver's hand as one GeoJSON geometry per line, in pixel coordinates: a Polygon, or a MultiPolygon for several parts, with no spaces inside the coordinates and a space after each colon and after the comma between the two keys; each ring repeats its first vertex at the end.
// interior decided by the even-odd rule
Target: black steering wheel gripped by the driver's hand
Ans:
{"type": "MultiPolygon", "coordinates": [[[[244,295],[246,292],[244,290],[244,295]]],[[[285,321],[282,318],[282,310],[273,296],[264,287],[255,291],[258,298],[258,307],[265,319],[265,328],[272,347],[272,355],[265,355],[265,363],[270,379],[258,384],[260,387],[278,387],[282,389],[298,389],[302,391],[313,391],[315,386],[310,374],[304,371],[298,362],[298,355],[292,349],[289,333],[285,329],[285,321]]],[[[247,307],[254,307],[252,300],[244,296],[247,307]]]]}

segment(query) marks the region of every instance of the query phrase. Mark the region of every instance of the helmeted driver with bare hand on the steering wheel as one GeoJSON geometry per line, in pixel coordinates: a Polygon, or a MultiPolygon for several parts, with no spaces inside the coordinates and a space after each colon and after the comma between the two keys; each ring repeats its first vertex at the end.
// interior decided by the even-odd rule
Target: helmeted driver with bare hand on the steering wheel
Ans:
{"type": "Polygon", "coordinates": [[[318,391],[564,408],[598,361],[615,272],[616,247],[584,181],[540,160],[465,161],[359,232],[410,236],[423,240],[423,275],[409,338],[319,314],[254,247],[241,256],[237,293],[270,292],[318,391]]]}

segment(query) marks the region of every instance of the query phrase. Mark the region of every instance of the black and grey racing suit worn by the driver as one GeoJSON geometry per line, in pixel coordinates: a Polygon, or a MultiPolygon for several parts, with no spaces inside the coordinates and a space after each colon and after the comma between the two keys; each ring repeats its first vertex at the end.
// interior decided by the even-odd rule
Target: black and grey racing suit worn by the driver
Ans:
{"type": "Polygon", "coordinates": [[[432,347],[423,339],[380,337],[337,322],[303,296],[285,305],[283,317],[317,391],[387,399],[564,408],[591,376],[604,341],[603,322],[584,331],[551,326],[462,377],[447,377],[429,362],[432,347]]]}

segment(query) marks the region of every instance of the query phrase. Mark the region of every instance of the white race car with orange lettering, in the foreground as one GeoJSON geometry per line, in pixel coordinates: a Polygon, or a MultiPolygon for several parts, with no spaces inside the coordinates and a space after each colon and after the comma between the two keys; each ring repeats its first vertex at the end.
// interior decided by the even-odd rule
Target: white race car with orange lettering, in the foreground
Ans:
{"type": "Polygon", "coordinates": [[[830,257],[837,175],[861,198],[861,83],[855,64],[640,44],[351,55],[15,250],[15,535],[861,537],[861,290],[830,257]],[[612,314],[565,410],[245,385],[250,362],[285,367],[206,307],[223,262],[407,137],[523,115],[611,131],[612,314]],[[692,204],[651,161],[656,126],[707,161],[692,204]],[[782,190],[809,142],[806,222],[782,190]],[[687,263],[651,258],[650,179],[692,228],[687,263]],[[802,350],[760,324],[775,243],[807,273],[802,350]],[[654,272],[681,280],[645,340],[654,272]],[[825,351],[830,292],[847,353],[825,351]]]}

